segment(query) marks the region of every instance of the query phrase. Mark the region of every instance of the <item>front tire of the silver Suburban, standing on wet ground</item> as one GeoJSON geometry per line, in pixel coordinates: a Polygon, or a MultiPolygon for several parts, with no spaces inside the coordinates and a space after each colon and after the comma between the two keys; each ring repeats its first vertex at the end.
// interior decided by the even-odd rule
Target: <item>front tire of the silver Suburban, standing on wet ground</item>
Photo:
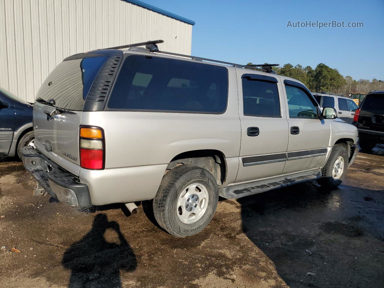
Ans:
{"type": "MultiPolygon", "coordinates": [[[[336,145],[333,147],[331,155],[323,169],[321,170],[321,179],[318,179],[317,182],[326,188],[334,189],[338,187],[347,173],[348,170],[348,152],[343,146],[336,145]],[[341,175],[333,177],[334,174],[334,165],[336,161],[339,161],[339,157],[343,158],[343,170],[341,175]]],[[[340,165],[341,166],[341,165],[340,165]]]]}

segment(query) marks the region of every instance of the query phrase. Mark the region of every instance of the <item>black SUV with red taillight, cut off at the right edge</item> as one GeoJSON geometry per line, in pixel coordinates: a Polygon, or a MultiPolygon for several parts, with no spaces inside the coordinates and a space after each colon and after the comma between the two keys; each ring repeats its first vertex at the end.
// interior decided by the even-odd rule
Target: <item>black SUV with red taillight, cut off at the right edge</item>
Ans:
{"type": "Polygon", "coordinates": [[[384,144],[384,91],[372,91],[356,110],[353,123],[359,131],[362,150],[370,151],[384,144]]]}

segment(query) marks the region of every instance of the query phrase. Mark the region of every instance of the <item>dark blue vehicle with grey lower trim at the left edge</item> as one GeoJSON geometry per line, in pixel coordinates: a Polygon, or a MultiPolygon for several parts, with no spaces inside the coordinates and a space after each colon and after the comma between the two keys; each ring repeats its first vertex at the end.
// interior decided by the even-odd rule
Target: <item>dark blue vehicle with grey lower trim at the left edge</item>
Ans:
{"type": "Polygon", "coordinates": [[[33,104],[0,87],[0,155],[20,157],[24,146],[33,146],[33,104]]]}

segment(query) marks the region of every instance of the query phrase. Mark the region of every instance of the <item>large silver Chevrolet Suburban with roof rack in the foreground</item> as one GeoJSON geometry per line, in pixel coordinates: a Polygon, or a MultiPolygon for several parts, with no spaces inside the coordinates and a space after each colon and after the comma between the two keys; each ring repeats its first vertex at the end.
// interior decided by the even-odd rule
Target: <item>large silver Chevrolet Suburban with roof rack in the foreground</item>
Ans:
{"type": "Polygon", "coordinates": [[[36,194],[78,207],[153,199],[159,225],[186,237],[210,222],[219,196],[341,183],[356,127],[303,83],[146,47],[70,56],[42,84],[36,148],[22,150],[36,194]]]}

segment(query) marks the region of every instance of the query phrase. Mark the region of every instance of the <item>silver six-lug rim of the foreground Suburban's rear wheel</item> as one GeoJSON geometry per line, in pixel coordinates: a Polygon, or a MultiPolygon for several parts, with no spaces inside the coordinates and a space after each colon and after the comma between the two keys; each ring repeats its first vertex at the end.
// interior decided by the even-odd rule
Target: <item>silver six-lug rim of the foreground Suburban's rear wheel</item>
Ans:
{"type": "Polygon", "coordinates": [[[177,216],[185,224],[199,220],[207,210],[208,190],[201,183],[190,184],[180,194],[177,201],[177,216]]]}

